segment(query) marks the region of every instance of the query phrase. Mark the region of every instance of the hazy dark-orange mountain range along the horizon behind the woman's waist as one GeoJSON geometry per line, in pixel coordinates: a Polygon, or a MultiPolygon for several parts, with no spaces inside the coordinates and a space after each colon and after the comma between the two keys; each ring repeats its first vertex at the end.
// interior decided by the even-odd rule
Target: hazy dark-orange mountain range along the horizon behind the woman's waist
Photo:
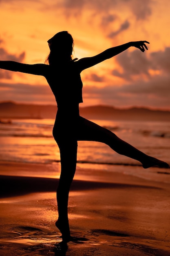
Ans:
{"type": "MultiPolygon", "coordinates": [[[[53,105],[0,103],[0,119],[53,119],[56,112],[57,107],[53,105]]],[[[90,106],[80,108],[80,115],[88,119],[170,121],[170,111],[137,107],[119,109],[111,106],[90,106]]]]}

